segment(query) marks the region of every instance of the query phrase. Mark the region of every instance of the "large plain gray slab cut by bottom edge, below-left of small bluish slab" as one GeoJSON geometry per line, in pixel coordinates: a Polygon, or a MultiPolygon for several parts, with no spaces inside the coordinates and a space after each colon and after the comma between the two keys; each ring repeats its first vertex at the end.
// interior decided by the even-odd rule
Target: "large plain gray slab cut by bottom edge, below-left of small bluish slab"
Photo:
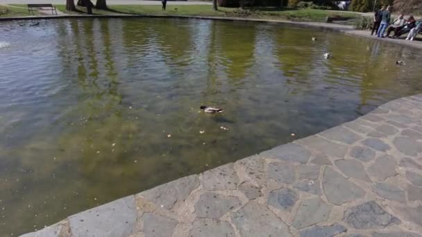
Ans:
{"type": "Polygon", "coordinates": [[[232,222],[242,237],[293,236],[285,222],[282,222],[267,206],[255,202],[248,202],[233,213],[232,222]]]}

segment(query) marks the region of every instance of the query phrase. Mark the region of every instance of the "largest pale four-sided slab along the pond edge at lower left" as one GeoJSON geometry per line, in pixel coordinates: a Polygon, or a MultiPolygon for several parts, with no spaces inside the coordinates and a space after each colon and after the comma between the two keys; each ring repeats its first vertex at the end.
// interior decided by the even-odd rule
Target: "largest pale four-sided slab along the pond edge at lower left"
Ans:
{"type": "Polygon", "coordinates": [[[73,236],[128,236],[136,222],[135,196],[83,211],[68,218],[73,236]]]}

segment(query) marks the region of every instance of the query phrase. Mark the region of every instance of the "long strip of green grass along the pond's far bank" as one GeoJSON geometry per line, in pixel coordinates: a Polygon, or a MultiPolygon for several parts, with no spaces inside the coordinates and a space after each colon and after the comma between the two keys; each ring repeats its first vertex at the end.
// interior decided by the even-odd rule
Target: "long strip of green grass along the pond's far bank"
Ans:
{"type": "MultiPolygon", "coordinates": [[[[67,12],[64,5],[56,6],[58,10],[67,14],[83,14],[85,8],[78,8],[77,12],[67,12]]],[[[287,19],[291,21],[325,21],[326,17],[339,15],[341,17],[359,17],[360,15],[351,12],[330,12],[316,9],[292,9],[285,8],[219,8],[212,10],[208,5],[167,5],[167,10],[161,10],[161,6],[153,5],[110,5],[109,10],[95,10],[96,15],[131,14],[131,15],[195,15],[195,16],[216,16],[216,17],[247,17],[260,19],[287,19]]]]}

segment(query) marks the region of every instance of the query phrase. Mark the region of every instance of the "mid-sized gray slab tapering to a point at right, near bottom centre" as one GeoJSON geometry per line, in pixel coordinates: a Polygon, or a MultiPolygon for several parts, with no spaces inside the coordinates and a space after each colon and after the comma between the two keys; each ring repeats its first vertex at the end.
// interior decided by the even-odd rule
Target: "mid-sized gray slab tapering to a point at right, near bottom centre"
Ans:
{"type": "Polygon", "coordinates": [[[195,214],[201,218],[221,218],[221,216],[241,205],[242,202],[236,197],[224,197],[217,193],[203,193],[195,204],[195,214]]]}

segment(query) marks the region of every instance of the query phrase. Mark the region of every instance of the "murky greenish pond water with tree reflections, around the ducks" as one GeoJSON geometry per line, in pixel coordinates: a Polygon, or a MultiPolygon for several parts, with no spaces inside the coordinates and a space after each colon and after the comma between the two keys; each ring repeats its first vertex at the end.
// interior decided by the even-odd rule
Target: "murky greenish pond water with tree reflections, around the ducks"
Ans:
{"type": "Polygon", "coordinates": [[[194,19],[31,23],[0,24],[0,236],[422,91],[420,51],[330,31],[194,19]]]}

